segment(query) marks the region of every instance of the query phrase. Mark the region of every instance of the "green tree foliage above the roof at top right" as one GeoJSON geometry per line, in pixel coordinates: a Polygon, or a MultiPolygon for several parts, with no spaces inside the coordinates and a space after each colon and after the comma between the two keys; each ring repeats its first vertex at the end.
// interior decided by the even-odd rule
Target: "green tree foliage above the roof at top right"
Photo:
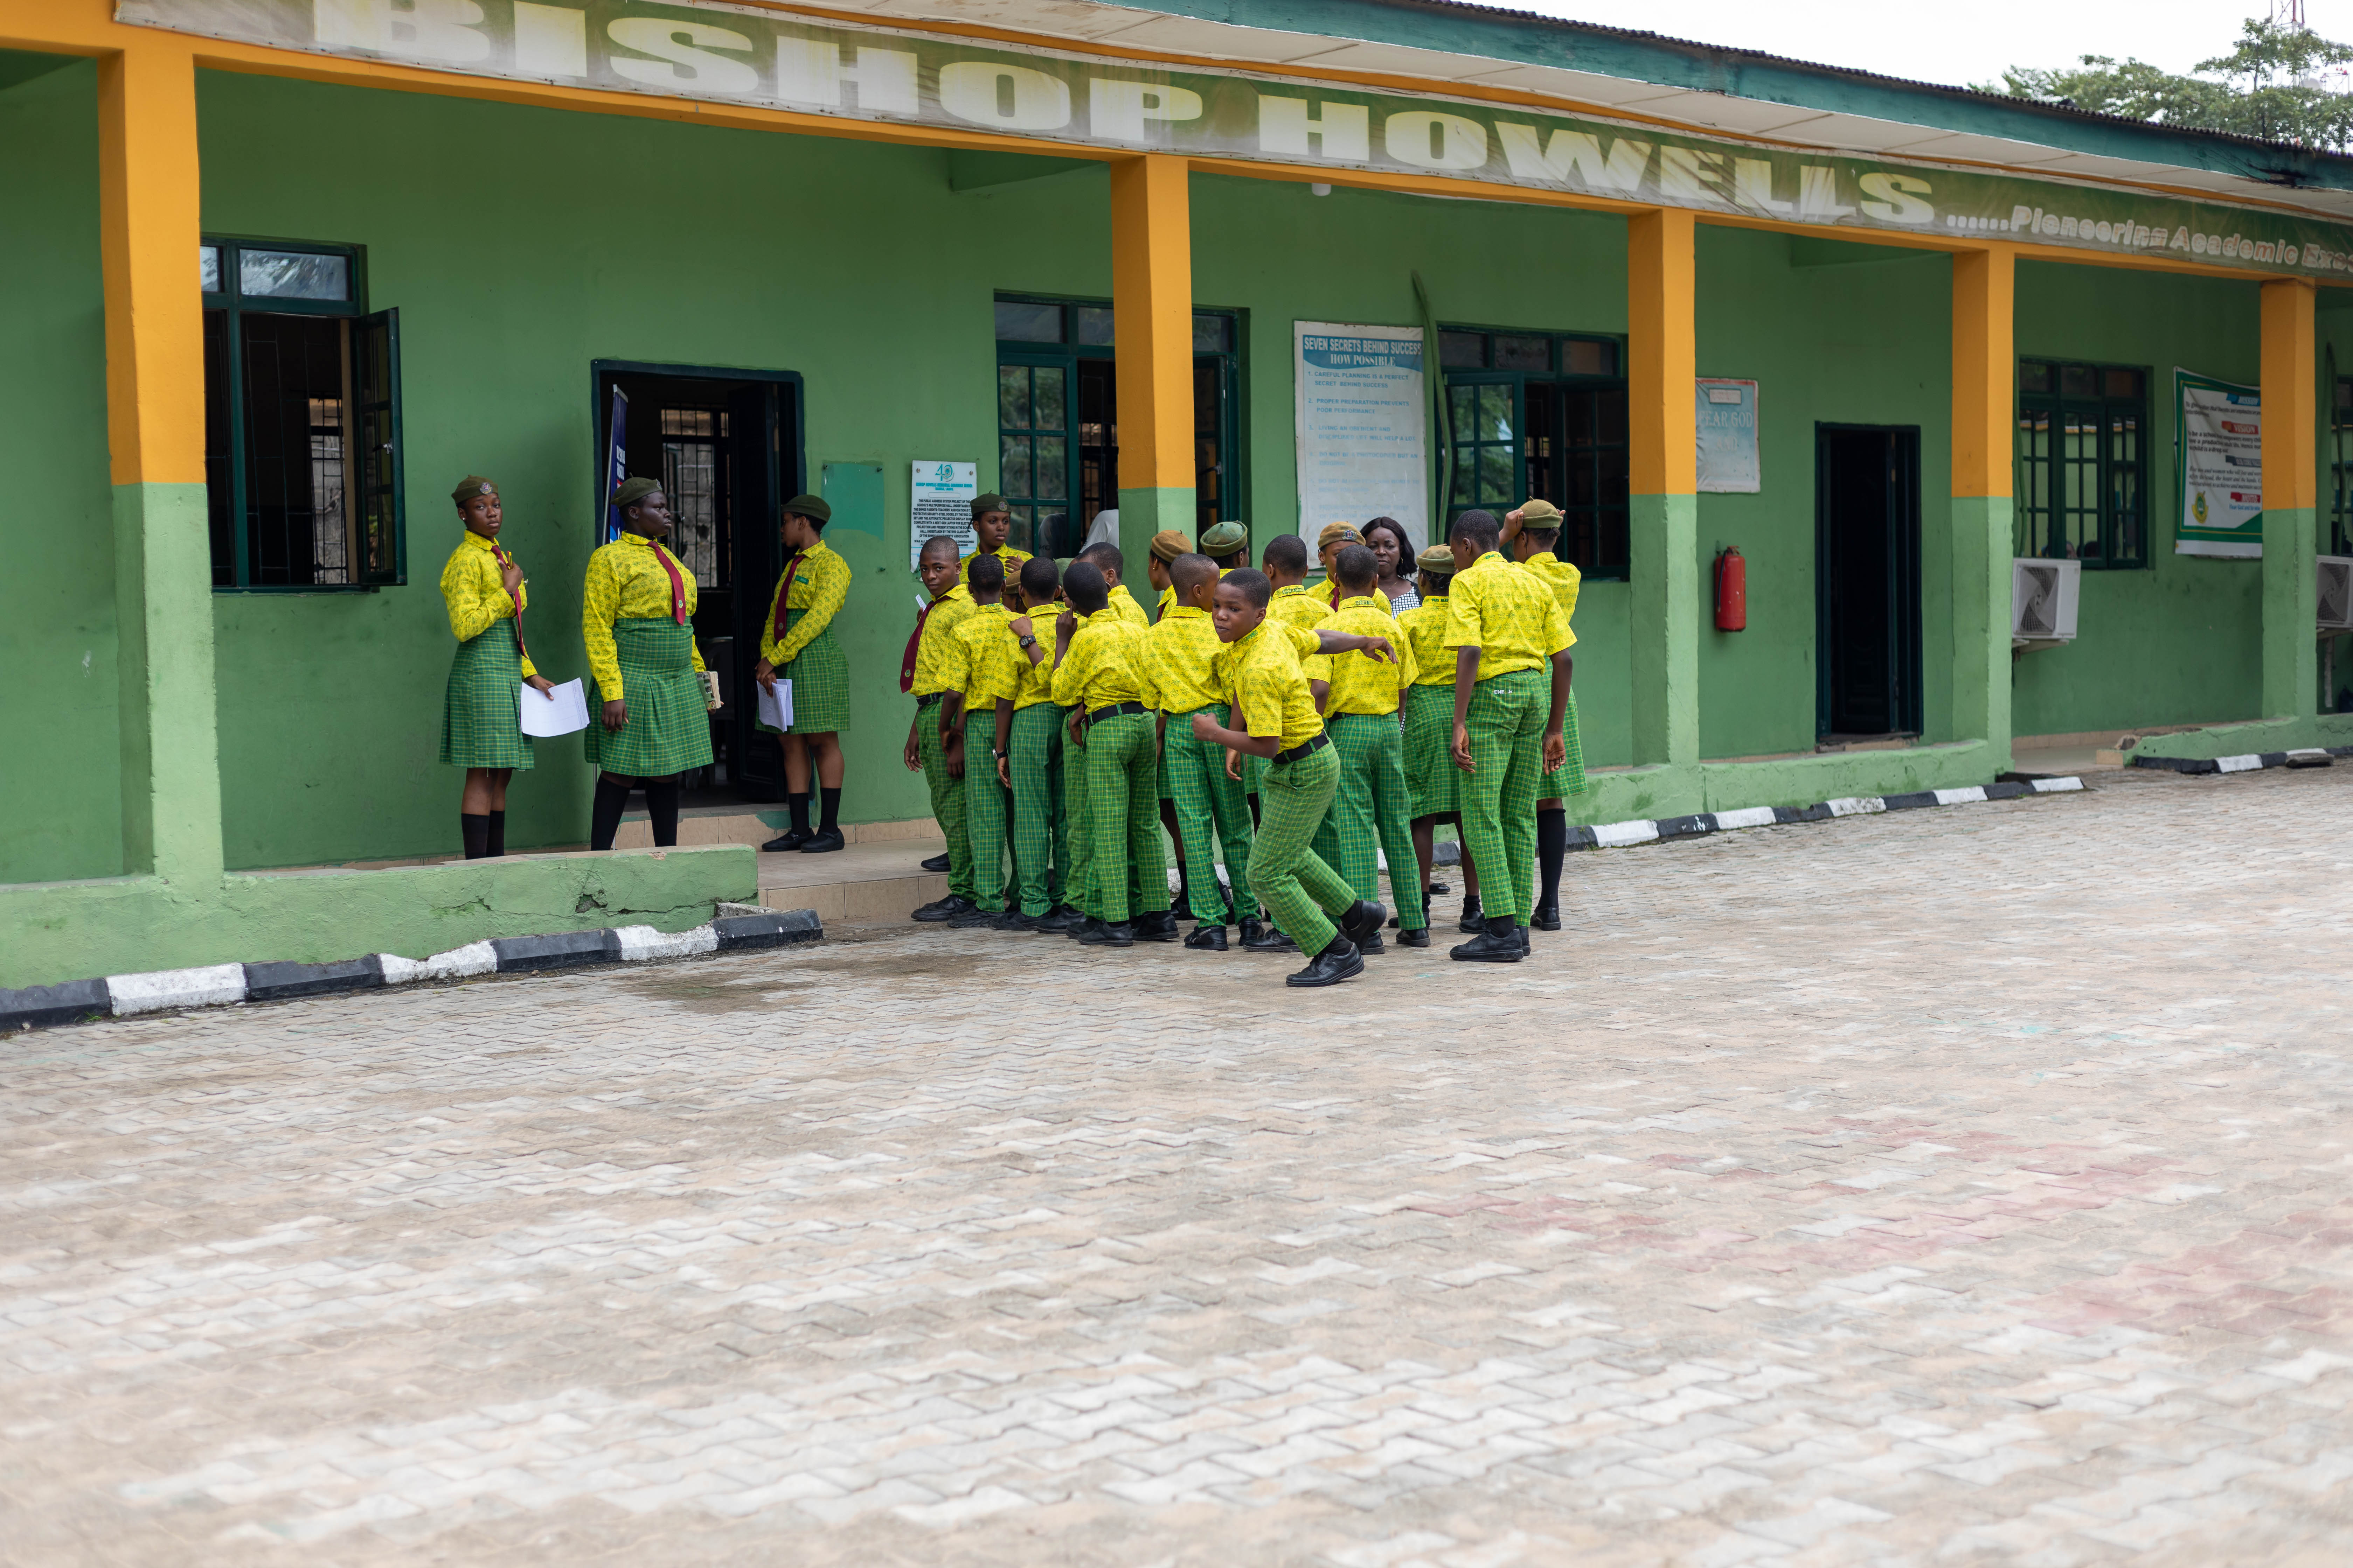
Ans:
{"type": "Polygon", "coordinates": [[[2235,49],[2198,61],[2191,75],[2085,54],[2073,68],[2012,66],[1986,92],[2341,153],[2353,146],[2353,94],[2334,92],[2327,73],[2348,61],[2353,47],[2311,28],[2249,19],[2235,49]]]}

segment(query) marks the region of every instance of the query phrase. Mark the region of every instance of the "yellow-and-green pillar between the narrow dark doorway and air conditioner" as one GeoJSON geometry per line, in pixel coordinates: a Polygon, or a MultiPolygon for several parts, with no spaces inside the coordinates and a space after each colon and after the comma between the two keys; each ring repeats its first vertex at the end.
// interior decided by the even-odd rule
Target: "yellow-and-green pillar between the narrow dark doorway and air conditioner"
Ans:
{"type": "Polygon", "coordinates": [[[1953,254],[1953,738],[2009,766],[2012,444],[2019,414],[2017,252],[1953,254]]]}

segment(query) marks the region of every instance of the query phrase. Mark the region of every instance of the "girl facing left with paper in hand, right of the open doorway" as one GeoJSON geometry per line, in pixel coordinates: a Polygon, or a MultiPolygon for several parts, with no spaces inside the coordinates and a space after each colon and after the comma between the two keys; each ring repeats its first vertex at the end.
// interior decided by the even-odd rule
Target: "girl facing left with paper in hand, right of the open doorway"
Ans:
{"type": "Polygon", "coordinates": [[[776,731],[760,724],[784,745],[784,790],[793,825],[760,849],[784,853],[826,853],[842,846],[842,743],[849,729],[849,661],[833,639],[833,616],[849,599],[849,562],[826,541],[833,508],[824,496],[793,496],[784,503],[784,574],[767,602],[767,630],[760,635],[760,663],[753,679],[762,689],[793,682],[793,724],[776,731]],[[812,766],[814,764],[814,766],[812,766]],[[824,816],[809,830],[809,773],[824,790],[824,816]]]}

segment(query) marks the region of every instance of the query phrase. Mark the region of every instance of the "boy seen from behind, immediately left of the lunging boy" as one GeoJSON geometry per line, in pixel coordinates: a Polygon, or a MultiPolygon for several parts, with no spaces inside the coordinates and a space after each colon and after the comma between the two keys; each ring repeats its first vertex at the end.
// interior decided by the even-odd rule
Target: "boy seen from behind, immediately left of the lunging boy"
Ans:
{"type": "Polygon", "coordinates": [[[1144,701],[1160,710],[1160,778],[1176,809],[1176,853],[1186,858],[1193,933],[1186,947],[1226,952],[1226,924],[1238,919],[1242,940],[1257,940],[1259,905],[1249,903],[1249,806],[1242,780],[1226,776],[1226,750],[1193,733],[1193,715],[1228,722],[1217,677],[1217,564],[1207,555],[1169,562],[1176,602],[1144,635],[1144,701]],[[1209,832],[1226,851],[1233,907],[1219,893],[1209,832]],[[1245,914],[1247,910],[1247,914],[1245,914]]]}

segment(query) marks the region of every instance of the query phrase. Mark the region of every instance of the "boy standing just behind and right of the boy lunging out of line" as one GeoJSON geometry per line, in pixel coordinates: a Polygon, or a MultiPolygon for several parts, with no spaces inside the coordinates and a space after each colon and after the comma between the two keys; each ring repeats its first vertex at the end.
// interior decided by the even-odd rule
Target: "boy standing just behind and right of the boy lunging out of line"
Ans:
{"type": "MultiPolygon", "coordinates": [[[[1325,813],[1315,839],[1320,853],[1358,898],[1381,891],[1381,856],[1388,856],[1388,891],[1398,905],[1398,943],[1431,945],[1431,917],[1424,882],[1417,877],[1414,804],[1405,788],[1405,731],[1398,729],[1398,703],[1421,675],[1412,644],[1388,614],[1388,599],[1377,590],[1381,567],[1365,545],[1344,545],[1332,557],[1332,581],[1341,590],[1339,609],[1322,623],[1327,632],[1384,637],[1395,661],[1365,654],[1332,656],[1332,696],[1325,701],[1325,733],[1339,752],[1339,792],[1325,813]]],[[[1381,933],[1362,943],[1362,952],[1381,952],[1381,933]]]]}

